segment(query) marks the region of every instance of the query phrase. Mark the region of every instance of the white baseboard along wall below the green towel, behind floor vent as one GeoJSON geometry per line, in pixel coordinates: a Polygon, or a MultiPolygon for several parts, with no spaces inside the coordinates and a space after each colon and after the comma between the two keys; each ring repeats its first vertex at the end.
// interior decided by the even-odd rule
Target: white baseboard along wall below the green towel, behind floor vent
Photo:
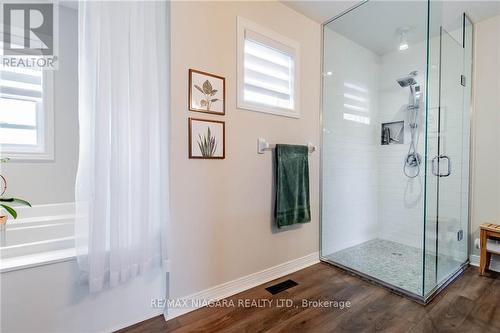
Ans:
{"type": "MultiPolygon", "coordinates": [[[[299,271],[311,265],[319,262],[319,252],[311,253],[305,257],[290,260],[283,264],[279,264],[274,267],[267,268],[263,271],[253,273],[247,276],[243,276],[233,281],[229,281],[218,286],[202,290],[200,292],[191,294],[186,297],[182,297],[181,300],[189,300],[189,307],[171,307],[168,309],[168,315],[165,316],[165,320],[170,320],[175,317],[181,316],[193,310],[196,310],[202,305],[197,305],[197,303],[217,301],[242,291],[251,289],[263,283],[278,279],[285,275],[291,274],[293,272],[299,271]]],[[[179,302],[182,303],[182,302],[179,302]]]]}

